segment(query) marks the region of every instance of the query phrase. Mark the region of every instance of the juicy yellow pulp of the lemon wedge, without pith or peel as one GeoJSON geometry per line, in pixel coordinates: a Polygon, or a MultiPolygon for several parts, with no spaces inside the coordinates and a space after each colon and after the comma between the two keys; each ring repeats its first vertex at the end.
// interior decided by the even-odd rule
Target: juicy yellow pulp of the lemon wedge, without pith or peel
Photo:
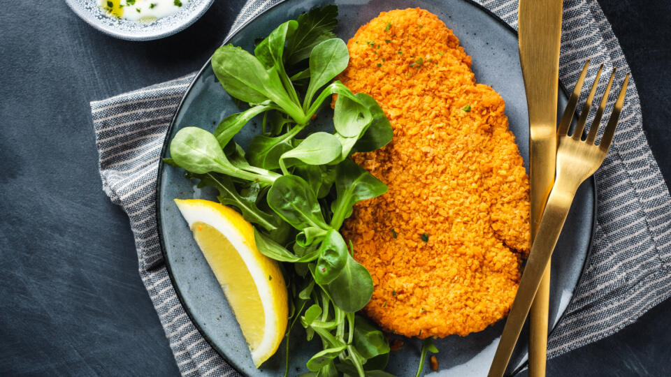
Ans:
{"type": "Polygon", "coordinates": [[[229,300],[250,349],[256,349],[264,336],[266,318],[250,270],[236,248],[219,230],[202,222],[194,223],[191,230],[229,300]],[[234,292],[231,287],[234,287],[234,292]]]}

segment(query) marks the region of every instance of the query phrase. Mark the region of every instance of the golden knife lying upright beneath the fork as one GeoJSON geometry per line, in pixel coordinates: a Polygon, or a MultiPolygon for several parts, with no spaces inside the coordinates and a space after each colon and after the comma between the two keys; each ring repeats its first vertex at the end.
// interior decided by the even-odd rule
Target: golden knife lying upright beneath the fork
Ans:
{"type": "MultiPolygon", "coordinates": [[[[517,15],[519,61],[529,110],[532,242],[545,201],[554,184],[561,11],[561,0],[519,0],[517,15]]],[[[545,376],[549,269],[548,264],[531,307],[529,320],[531,377],[545,376]]],[[[512,352],[512,349],[510,351],[512,352]]]]}

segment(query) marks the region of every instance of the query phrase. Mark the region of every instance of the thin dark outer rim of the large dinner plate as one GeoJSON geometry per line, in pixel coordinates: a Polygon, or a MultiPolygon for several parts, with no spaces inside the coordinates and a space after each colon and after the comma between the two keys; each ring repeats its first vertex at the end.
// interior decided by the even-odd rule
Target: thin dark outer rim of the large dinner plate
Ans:
{"type": "MultiPolygon", "coordinates": [[[[70,1],[71,0],[67,0],[67,3],[69,4],[70,1]]],[[[489,17],[491,17],[493,20],[495,20],[499,24],[503,25],[503,27],[505,27],[505,29],[512,32],[512,34],[514,34],[515,38],[519,40],[519,34],[517,33],[517,30],[514,29],[513,27],[511,27],[505,21],[503,21],[496,14],[491,12],[491,10],[485,8],[484,6],[482,6],[482,4],[475,2],[475,0],[461,0],[461,1],[464,1],[466,3],[470,3],[470,5],[475,6],[476,8],[481,10],[482,12],[486,13],[486,15],[489,15],[489,17]]],[[[214,2],[214,0],[210,0],[210,5],[211,5],[212,2],[214,2]]],[[[277,3],[274,3],[273,5],[269,6],[265,10],[263,10],[262,12],[259,12],[257,15],[254,15],[249,20],[245,21],[243,24],[241,24],[236,29],[231,29],[231,31],[229,31],[229,34],[226,36],[226,38],[221,43],[221,45],[226,45],[226,43],[228,43],[229,40],[231,40],[233,38],[233,36],[236,36],[236,34],[240,33],[240,31],[243,31],[243,29],[245,29],[245,27],[247,27],[250,23],[254,22],[254,20],[257,20],[258,17],[260,17],[261,15],[264,15],[269,10],[271,10],[273,8],[276,8],[277,6],[280,6],[280,4],[283,4],[283,3],[287,3],[287,1],[279,1],[277,3]]],[[[207,8],[209,8],[209,6],[207,8]]],[[[207,10],[207,8],[205,10],[207,10]]],[[[203,13],[204,13],[204,11],[203,11],[203,13]]],[[[82,18],[84,18],[84,17],[82,17],[82,18]]],[[[199,17],[196,17],[194,19],[194,21],[197,20],[198,18],[199,17]]],[[[87,20],[85,20],[85,21],[88,23],[87,20]]],[[[192,22],[194,22],[194,21],[192,21],[192,22]]],[[[97,29],[97,27],[96,27],[96,29],[97,29]]],[[[159,155],[160,156],[159,166],[157,168],[157,175],[156,175],[156,177],[157,177],[156,199],[155,199],[156,211],[154,213],[154,217],[155,217],[156,223],[157,223],[157,231],[159,233],[159,237],[158,237],[159,238],[159,246],[161,247],[161,256],[163,257],[164,264],[166,265],[166,272],[168,272],[168,278],[170,279],[171,284],[173,285],[173,289],[175,290],[175,295],[177,296],[177,298],[178,298],[182,308],[184,309],[185,313],[187,313],[187,317],[192,322],[194,327],[196,327],[196,330],[198,330],[199,334],[201,334],[203,339],[205,339],[205,341],[208,342],[208,344],[210,345],[210,347],[212,347],[212,349],[217,351],[219,356],[221,356],[229,364],[229,366],[233,370],[237,371],[239,374],[241,374],[243,376],[247,376],[247,374],[245,374],[243,371],[241,371],[236,366],[236,364],[228,356],[226,356],[226,353],[224,353],[224,350],[222,350],[222,348],[217,346],[217,344],[215,344],[215,342],[212,341],[212,339],[210,339],[208,334],[206,334],[203,331],[203,329],[201,328],[201,325],[196,320],[194,320],[194,317],[192,316],[192,313],[191,313],[191,309],[189,309],[189,307],[185,304],[185,301],[182,299],[182,292],[181,292],[178,284],[175,283],[175,278],[173,276],[173,270],[171,268],[170,260],[168,260],[168,256],[166,255],[166,248],[164,247],[164,244],[166,242],[164,240],[164,232],[163,232],[163,226],[162,226],[162,223],[161,223],[161,216],[160,216],[161,195],[159,195],[159,192],[161,192],[161,188],[162,188],[161,177],[163,176],[164,167],[166,165],[166,163],[164,163],[164,161],[163,161],[163,158],[164,158],[164,156],[166,156],[166,152],[168,151],[168,147],[170,145],[168,137],[169,137],[169,135],[171,135],[171,133],[173,131],[173,128],[175,128],[175,123],[177,121],[178,114],[180,114],[182,108],[184,107],[185,100],[186,100],[187,96],[189,96],[189,94],[191,93],[192,89],[194,88],[194,84],[199,79],[199,77],[201,77],[201,75],[203,75],[203,72],[206,71],[209,68],[211,60],[212,60],[212,58],[210,57],[207,61],[205,61],[205,64],[203,64],[201,69],[199,69],[198,73],[196,73],[196,75],[194,75],[194,78],[193,78],[192,82],[189,84],[189,87],[187,87],[187,90],[185,91],[184,95],[180,99],[180,104],[178,105],[178,108],[175,109],[175,113],[173,114],[173,117],[170,121],[170,124],[168,125],[168,128],[166,128],[166,137],[164,139],[163,146],[161,147],[161,154],[159,155]]],[[[566,98],[568,98],[568,94],[570,92],[566,89],[566,87],[564,87],[564,85],[561,83],[561,80],[558,82],[558,87],[561,89],[561,91],[563,91],[564,96],[566,96],[566,98]]],[[[526,97],[526,94],[525,94],[525,97],[526,97]]],[[[580,283],[582,282],[582,280],[584,279],[584,272],[585,272],[585,269],[587,267],[587,260],[591,256],[593,240],[594,240],[594,232],[596,231],[596,219],[597,219],[597,209],[598,209],[598,207],[597,207],[598,206],[598,195],[597,195],[598,193],[596,191],[596,177],[594,177],[592,175],[587,180],[587,182],[589,182],[589,186],[591,186],[590,189],[591,189],[591,191],[594,195],[593,196],[594,200],[593,200],[593,203],[592,203],[592,216],[590,216],[591,226],[590,226],[589,242],[587,242],[587,251],[585,253],[585,259],[582,262],[582,267],[580,269],[580,274],[579,274],[578,279],[576,281],[575,287],[573,287],[573,290],[571,292],[571,300],[573,298],[573,294],[575,293],[575,288],[577,288],[580,285],[580,283]]],[[[569,300],[569,302],[570,302],[570,300],[569,300]]],[[[563,318],[566,315],[567,309],[568,309],[568,306],[561,313],[558,313],[558,316],[557,316],[557,319],[556,319],[557,324],[560,323],[561,320],[563,320],[563,318]]],[[[552,326],[552,328],[548,331],[548,338],[556,330],[556,327],[557,327],[556,324],[554,324],[552,326]]],[[[526,360],[519,367],[517,367],[517,369],[514,369],[511,376],[515,376],[515,375],[519,374],[519,372],[526,369],[527,365],[528,365],[528,360],[526,360]]]]}

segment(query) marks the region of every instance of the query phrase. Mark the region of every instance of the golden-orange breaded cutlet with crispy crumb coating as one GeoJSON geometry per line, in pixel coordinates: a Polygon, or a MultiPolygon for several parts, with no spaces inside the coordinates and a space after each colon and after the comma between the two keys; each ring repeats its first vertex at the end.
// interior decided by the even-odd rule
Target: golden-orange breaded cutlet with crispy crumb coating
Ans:
{"type": "Polygon", "coordinates": [[[465,336],[506,316],[529,249],[528,177],[503,99],[436,15],[391,10],[347,44],[340,80],[394,128],[354,160],[389,185],[343,233],[373,275],[368,316],[406,336],[465,336]]]}

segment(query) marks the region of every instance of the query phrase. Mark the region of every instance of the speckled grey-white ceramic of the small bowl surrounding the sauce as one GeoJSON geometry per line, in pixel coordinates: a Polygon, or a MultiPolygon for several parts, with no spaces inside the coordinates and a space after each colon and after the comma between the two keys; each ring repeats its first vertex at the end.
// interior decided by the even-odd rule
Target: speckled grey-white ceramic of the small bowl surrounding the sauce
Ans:
{"type": "Polygon", "coordinates": [[[105,34],[127,40],[159,39],[182,31],[198,20],[215,0],[182,1],[182,9],[153,22],[120,20],[108,15],[99,0],[66,0],[82,20],[105,34]]]}

